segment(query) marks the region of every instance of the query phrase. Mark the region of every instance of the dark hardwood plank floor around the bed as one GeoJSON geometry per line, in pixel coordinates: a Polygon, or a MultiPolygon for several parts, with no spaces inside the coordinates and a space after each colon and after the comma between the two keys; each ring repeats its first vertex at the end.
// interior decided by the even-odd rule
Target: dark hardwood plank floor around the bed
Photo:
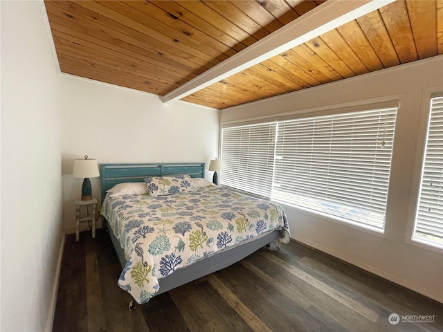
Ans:
{"type": "Polygon", "coordinates": [[[79,242],[67,235],[53,331],[443,331],[442,304],[296,241],[262,248],[132,312],[117,286],[120,271],[107,232],[82,232],[79,242]]]}

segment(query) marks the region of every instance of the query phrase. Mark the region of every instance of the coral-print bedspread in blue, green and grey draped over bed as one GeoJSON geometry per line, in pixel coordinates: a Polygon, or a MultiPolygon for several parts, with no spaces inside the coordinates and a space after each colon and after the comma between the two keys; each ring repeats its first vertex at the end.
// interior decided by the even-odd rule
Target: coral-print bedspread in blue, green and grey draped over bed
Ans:
{"type": "Polygon", "coordinates": [[[143,304],[159,290],[158,279],[213,252],[289,226],[280,205],[224,187],[202,187],[165,196],[106,197],[101,214],[125,249],[118,285],[143,304]]]}

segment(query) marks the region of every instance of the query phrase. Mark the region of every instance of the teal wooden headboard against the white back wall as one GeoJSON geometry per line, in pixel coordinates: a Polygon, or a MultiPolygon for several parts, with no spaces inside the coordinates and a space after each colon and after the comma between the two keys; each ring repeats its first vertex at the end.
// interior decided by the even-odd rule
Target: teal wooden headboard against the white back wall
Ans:
{"type": "Polygon", "coordinates": [[[102,201],[106,191],[117,183],[143,182],[147,176],[173,176],[188,174],[191,178],[205,177],[204,163],[165,164],[101,164],[100,185],[102,201]]]}

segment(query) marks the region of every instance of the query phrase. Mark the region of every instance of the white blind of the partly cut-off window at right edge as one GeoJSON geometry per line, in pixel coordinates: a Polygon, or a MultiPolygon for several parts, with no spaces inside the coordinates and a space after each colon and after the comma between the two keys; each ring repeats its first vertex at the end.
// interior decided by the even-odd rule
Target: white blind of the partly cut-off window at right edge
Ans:
{"type": "Polygon", "coordinates": [[[431,99],[413,239],[443,248],[443,97],[431,99]]]}

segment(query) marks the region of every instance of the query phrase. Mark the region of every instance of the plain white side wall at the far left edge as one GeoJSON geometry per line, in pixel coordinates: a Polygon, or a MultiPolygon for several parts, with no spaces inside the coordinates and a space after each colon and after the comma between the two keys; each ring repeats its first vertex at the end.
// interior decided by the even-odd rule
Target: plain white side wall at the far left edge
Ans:
{"type": "Polygon", "coordinates": [[[0,6],[0,330],[48,331],[64,239],[60,75],[43,2],[0,6]]]}

